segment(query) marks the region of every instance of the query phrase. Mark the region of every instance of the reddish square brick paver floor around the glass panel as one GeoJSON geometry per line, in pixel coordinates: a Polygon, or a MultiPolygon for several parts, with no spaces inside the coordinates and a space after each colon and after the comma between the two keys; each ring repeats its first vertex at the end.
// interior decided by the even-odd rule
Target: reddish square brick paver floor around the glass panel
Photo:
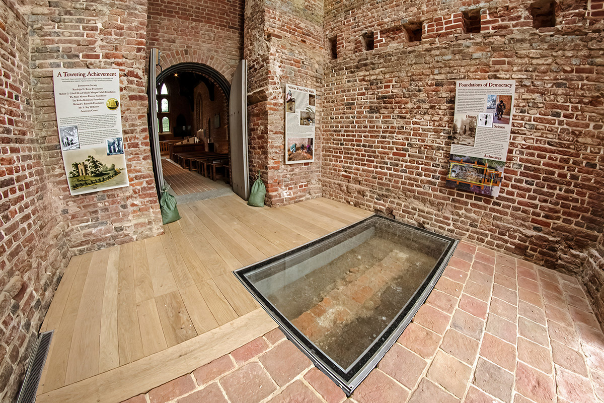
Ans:
{"type": "MultiPolygon", "coordinates": [[[[129,403],[344,399],[275,329],[129,403]]],[[[426,304],[349,400],[602,402],[604,335],[573,277],[461,242],[426,304]]]]}

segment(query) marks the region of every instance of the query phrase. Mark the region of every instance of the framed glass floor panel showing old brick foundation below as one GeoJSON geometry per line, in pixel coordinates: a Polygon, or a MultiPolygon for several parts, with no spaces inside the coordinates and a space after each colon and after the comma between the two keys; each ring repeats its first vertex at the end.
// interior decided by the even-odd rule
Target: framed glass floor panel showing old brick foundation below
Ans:
{"type": "Polygon", "coordinates": [[[235,274],[350,395],[426,300],[455,245],[374,215],[235,274]]]}

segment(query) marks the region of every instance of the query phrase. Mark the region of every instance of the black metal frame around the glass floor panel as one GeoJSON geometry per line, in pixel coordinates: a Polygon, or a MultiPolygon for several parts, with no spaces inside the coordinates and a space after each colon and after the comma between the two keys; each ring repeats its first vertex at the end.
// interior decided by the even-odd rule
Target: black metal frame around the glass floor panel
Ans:
{"type": "Polygon", "coordinates": [[[347,396],[355,390],[355,388],[361,384],[363,379],[369,375],[372,369],[377,366],[377,363],[382,359],[385,353],[390,349],[394,342],[402,334],[405,327],[411,322],[413,316],[417,313],[420,306],[426,301],[428,295],[434,288],[437,280],[439,280],[442,272],[444,271],[449,259],[457,246],[458,240],[452,239],[447,236],[433,233],[432,231],[425,230],[423,228],[413,227],[408,224],[404,224],[399,221],[395,221],[390,218],[379,216],[374,214],[368,218],[362,219],[355,224],[349,225],[348,227],[342,228],[341,230],[334,231],[333,233],[327,234],[324,237],[305,243],[300,247],[278,254],[277,256],[270,257],[269,259],[262,260],[262,262],[254,263],[240,269],[235,270],[233,273],[239,279],[239,281],[245,286],[246,289],[252,294],[252,296],[260,303],[260,306],[268,312],[269,315],[277,322],[280,329],[291,340],[309,359],[315,364],[315,366],[331,378],[345,393],[347,396]],[[394,317],[394,320],[382,331],[382,333],[371,343],[371,346],[365,350],[365,352],[359,356],[355,363],[347,369],[342,369],[332,358],[326,353],[319,349],[315,344],[309,340],[304,334],[300,332],[288,318],[284,317],[277,308],[257,289],[254,284],[246,277],[246,274],[250,274],[258,269],[272,265],[274,263],[284,261],[285,259],[291,258],[296,254],[303,253],[309,248],[320,245],[321,243],[329,243],[334,239],[345,235],[346,233],[353,232],[358,227],[370,225],[372,222],[378,222],[379,220],[385,220],[388,223],[394,225],[401,225],[409,230],[417,231],[423,236],[434,237],[434,239],[444,240],[448,242],[445,250],[441,254],[439,260],[432,268],[432,271],[426,276],[422,285],[413,294],[413,297],[408,300],[405,306],[403,306],[399,314],[394,317]]]}

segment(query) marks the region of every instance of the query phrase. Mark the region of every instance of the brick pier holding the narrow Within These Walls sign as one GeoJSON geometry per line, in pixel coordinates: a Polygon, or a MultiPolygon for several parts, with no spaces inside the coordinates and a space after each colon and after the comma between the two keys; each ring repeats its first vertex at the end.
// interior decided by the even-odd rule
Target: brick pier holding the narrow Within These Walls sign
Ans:
{"type": "Polygon", "coordinates": [[[246,18],[251,16],[245,29],[248,90],[254,103],[248,112],[251,125],[262,127],[250,134],[250,173],[262,171],[269,205],[320,196],[323,2],[252,1],[246,7],[246,18]],[[288,83],[317,90],[314,163],[285,164],[283,102],[288,83]]]}

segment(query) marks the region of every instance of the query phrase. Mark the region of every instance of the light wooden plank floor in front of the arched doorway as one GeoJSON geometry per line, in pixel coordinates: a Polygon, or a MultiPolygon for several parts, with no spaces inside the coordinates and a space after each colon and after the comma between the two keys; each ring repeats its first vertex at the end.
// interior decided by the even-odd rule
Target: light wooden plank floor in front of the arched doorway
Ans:
{"type": "Polygon", "coordinates": [[[323,198],[254,208],[230,195],[178,208],[182,219],[161,236],[71,259],[42,324],[55,333],[40,401],[101,373],[123,377],[123,366],[181,353],[181,343],[251,314],[259,306],[231,271],[371,215],[323,198]]]}

